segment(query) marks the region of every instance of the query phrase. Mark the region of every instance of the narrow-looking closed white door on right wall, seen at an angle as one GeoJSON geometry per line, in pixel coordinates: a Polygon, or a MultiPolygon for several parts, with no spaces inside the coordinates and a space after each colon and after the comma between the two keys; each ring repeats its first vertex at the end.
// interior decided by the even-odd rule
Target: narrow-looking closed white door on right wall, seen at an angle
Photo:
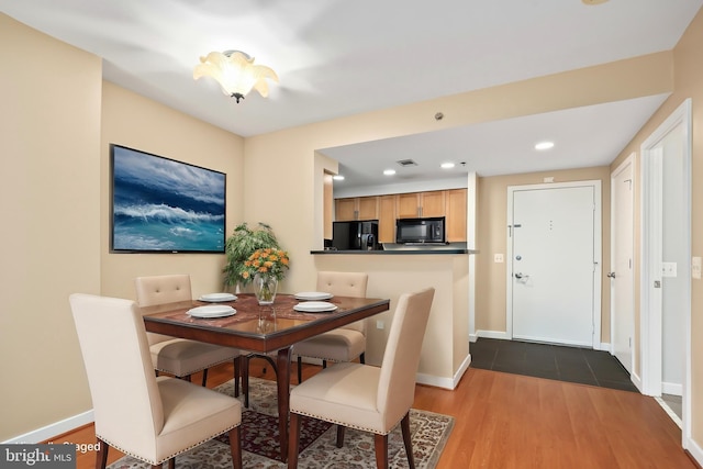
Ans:
{"type": "Polygon", "coordinates": [[[632,373],[634,313],[634,156],[611,175],[611,340],[615,358],[632,373]]]}

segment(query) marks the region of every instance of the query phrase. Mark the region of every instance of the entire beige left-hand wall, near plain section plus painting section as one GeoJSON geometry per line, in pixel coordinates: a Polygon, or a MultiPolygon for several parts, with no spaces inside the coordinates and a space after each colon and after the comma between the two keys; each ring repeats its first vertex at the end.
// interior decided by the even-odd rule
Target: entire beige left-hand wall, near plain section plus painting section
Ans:
{"type": "Polygon", "coordinates": [[[109,144],[226,172],[230,232],[243,214],[244,139],[103,83],[99,57],[3,14],[0,59],[0,440],[7,440],[89,417],[70,293],[134,298],[135,276],[175,271],[193,276],[194,294],[222,288],[222,255],[109,254],[109,144]]]}

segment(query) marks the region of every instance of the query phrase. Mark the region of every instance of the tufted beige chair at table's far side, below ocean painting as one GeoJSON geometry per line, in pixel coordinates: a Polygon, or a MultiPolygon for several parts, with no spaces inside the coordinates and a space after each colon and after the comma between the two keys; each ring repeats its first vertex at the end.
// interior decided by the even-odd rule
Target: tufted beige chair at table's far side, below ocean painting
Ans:
{"type": "MultiPolygon", "coordinates": [[[[192,300],[190,276],[187,273],[137,277],[134,284],[141,308],[192,300]]],[[[146,336],[157,372],[190,381],[192,373],[202,371],[202,386],[208,380],[208,368],[234,360],[235,395],[239,394],[238,349],[161,334],[146,333],[146,336]]]]}

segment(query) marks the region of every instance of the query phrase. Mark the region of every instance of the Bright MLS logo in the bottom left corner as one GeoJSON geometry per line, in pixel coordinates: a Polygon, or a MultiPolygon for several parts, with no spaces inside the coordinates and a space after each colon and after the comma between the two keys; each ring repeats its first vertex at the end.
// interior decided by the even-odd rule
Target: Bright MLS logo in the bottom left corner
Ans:
{"type": "Polygon", "coordinates": [[[0,468],[76,469],[76,445],[0,445],[0,468]]]}

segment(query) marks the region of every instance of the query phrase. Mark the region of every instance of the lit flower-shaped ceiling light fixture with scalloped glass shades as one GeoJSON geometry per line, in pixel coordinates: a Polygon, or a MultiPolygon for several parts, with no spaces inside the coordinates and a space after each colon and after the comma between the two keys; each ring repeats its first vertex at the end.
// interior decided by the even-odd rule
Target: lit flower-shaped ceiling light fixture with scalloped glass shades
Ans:
{"type": "Polygon", "coordinates": [[[193,79],[212,77],[222,87],[222,92],[239,102],[252,89],[264,98],[268,96],[266,78],[278,82],[276,71],[264,65],[254,65],[254,57],[239,51],[211,52],[200,57],[193,70],[193,79]]]}

